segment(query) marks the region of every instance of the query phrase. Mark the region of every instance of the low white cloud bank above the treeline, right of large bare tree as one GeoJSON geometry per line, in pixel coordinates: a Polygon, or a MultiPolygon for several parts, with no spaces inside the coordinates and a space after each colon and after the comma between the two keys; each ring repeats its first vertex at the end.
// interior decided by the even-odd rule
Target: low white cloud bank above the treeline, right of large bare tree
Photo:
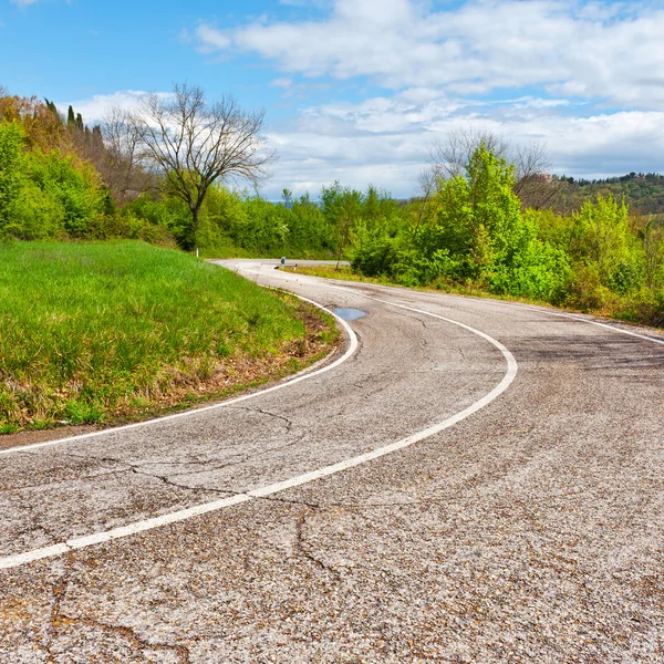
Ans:
{"type": "MultiPolygon", "coordinates": [[[[604,177],[661,169],[663,112],[581,117],[569,115],[573,107],[560,115],[547,101],[499,105],[404,91],[392,98],[309,108],[269,132],[280,158],[266,195],[278,197],[283,187],[318,195],[322,185],[336,178],[360,189],[372,183],[409,197],[417,190],[432,143],[467,127],[500,134],[515,146],[544,143],[552,172],[559,175],[604,177]]],[[[569,106],[566,100],[558,102],[569,106]]]]}

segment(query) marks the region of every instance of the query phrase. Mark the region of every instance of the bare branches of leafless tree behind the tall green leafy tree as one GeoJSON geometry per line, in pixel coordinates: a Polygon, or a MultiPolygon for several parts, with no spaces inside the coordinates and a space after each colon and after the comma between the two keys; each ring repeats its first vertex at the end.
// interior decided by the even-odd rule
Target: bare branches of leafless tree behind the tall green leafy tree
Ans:
{"type": "Polygon", "coordinates": [[[551,162],[542,143],[515,149],[500,134],[473,127],[457,129],[430,147],[429,172],[443,180],[466,174],[470,157],[480,145],[515,165],[513,190],[523,207],[542,208],[552,204],[560,191],[560,181],[548,173],[551,162]]]}

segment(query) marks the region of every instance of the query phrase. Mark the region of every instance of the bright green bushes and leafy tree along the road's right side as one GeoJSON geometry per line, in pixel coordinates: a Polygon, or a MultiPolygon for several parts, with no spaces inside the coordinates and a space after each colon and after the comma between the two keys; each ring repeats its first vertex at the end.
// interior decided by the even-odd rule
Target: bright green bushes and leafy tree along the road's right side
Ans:
{"type": "Polygon", "coordinates": [[[480,136],[463,169],[437,178],[422,216],[356,248],[353,270],[664,325],[660,218],[631,216],[611,195],[562,216],[526,207],[518,184],[515,164],[480,136]]]}

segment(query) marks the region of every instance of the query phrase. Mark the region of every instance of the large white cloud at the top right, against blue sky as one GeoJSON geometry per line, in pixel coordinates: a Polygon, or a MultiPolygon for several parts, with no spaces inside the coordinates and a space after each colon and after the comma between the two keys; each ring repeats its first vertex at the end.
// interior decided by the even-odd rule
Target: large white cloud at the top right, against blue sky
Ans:
{"type": "Polygon", "coordinates": [[[547,86],[658,107],[663,32],[664,11],[639,2],[475,0],[432,11],[414,0],[336,0],[322,20],[204,23],[196,39],[204,51],[258,53],[290,74],[370,76],[397,90],[445,85],[455,94],[547,86]]]}

